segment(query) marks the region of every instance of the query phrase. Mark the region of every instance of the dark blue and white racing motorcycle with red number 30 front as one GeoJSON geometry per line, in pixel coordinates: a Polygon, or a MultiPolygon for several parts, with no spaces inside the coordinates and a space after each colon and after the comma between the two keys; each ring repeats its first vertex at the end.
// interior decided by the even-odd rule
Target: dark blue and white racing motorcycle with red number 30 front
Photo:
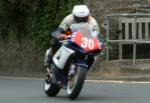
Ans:
{"type": "Polygon", "coordinates": [[[46,71],[44,91],[46,95],[54,97],[65,89],[68,97],[74,100],[82,90],[94,57],[102,50],[102,43],[87,23],[73,24],[70,28],[72,35],[61,41],[62,45],[46,71]]]}

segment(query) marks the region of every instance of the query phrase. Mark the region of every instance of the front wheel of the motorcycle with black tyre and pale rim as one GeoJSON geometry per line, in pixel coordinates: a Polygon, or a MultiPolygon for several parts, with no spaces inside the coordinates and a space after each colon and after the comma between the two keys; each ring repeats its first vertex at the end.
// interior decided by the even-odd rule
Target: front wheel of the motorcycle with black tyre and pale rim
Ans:
{"type": "Polygon", "coordinates": [[[87,70],[85,67],[77,66],[74,76],[68,80],[67,93],[70,99],[73,100],[80,94],[84,84],[86,72],[87,70]]]}

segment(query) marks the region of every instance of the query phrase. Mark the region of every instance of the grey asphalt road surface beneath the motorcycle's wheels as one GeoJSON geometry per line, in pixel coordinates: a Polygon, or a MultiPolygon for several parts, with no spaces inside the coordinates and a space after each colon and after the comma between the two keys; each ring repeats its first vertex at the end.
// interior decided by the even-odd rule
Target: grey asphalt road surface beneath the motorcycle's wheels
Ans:
{"type": "Polygon", "coordinates": [[[0,77],[0,103],[150,103],[150,83],[86,82],[79,98],[47,97],[40,79],[0,77]]]}

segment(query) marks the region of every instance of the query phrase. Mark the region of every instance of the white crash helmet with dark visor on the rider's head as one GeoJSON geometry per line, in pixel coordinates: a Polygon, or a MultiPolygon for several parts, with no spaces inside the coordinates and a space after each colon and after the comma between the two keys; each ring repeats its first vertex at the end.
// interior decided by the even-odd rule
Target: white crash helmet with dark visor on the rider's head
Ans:
{"type": "Polygon", "coordinates": [[[90,11],[86,5],[75,5],[72,10],[72,14],[74,16],[74,20],[79,22],[87,22],[90,11]]]}

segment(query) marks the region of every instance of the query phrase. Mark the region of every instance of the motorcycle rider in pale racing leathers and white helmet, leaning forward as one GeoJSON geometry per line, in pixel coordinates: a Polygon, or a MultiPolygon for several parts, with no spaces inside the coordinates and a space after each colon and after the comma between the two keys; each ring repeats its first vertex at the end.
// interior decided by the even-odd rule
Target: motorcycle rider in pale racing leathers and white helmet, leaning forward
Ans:
{"type": "MultiPolygon", "coordinates": [[[[52,39],[50,41],[51,47],[46,51],[45,53],[45,59],[44,59],[44,67],[50,68],[50,64],[52,62],[52,56],[53,54],[58,50],[60,47],[58,39],[62,40],[65,39],[67,35],[71,34],[70,26],[72,24],[76,23],[89,23],[93,26],[93,32],[95,32],[95,36],[99,37],[99,40],[104,43],[104,39],[99,33],[99,26],[96,20],[90,15],[89,8],[86,5],[75,5],[73,7],[72,13],[66,16],[59,27],[52,32],[52,37],[55,39],[52,39]]],[[[91,60],[92,63],[94,60],[91,60]]],[[[91,64],[92,64],[91,63],[91,64]]]]}

